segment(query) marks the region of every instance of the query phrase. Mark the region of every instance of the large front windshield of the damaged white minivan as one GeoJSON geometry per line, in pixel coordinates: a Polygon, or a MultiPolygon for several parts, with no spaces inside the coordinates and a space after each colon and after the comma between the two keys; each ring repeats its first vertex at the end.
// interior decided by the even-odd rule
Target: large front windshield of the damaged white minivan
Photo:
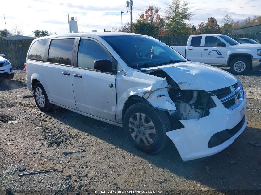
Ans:
{"type": "Polygon", "coordinates": [[[132,68],[153,67],[187,61],[174,49],[149,36],[120,35],[102,37],[132,68]]]}

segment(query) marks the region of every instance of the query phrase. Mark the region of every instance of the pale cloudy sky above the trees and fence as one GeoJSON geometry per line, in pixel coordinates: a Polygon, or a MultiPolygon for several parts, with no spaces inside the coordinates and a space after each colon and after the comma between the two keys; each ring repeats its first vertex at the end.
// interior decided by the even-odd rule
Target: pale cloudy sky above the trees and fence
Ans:
{"type": "MultiPolygon", "coordinates": [[[[133,0],[133,21],[138,18],[149,5],[156,5],[160,14],[164,15],[171,0],[145,1],[133,0]]],[[[222,17],[229,13],[234,20],[261,14],[260,0],[187,0],[190,3],[190,12],[193,16],[187,23],[195,26],[209,17],[215,17],[221,22],[222,17]]],[[[121,27],[121,11],[123,25],[130,21],[129,8],[126,0],[5,0],[1,4],[0,29],[12,30],[12,26],[19,25],[23,35],[32,36],[33,30],[48,30],[52,33],[69,33],[68,17],[76,17],[79,32],[91,32],[103,29],[111,30],[112,27],[121,27]],[[128,13],[126,11],[128,10],[128,13]]]]}

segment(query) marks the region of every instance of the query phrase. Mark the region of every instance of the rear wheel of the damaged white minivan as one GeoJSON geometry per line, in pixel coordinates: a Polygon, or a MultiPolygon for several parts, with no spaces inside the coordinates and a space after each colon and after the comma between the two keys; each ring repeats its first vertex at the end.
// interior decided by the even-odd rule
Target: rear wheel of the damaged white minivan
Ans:
{"type": "Polygon", "coordinates": [[[44,87],[40,82],[34,85],[34,99],[37,107],[43,112],[50,111],[54,108],[54,104],[49,102],[44,87]]]}

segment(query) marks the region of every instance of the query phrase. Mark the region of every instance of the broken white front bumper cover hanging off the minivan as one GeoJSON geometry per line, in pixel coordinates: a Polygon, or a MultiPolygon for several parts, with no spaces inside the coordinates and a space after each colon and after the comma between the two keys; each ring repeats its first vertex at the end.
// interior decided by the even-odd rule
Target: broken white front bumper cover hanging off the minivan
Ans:
{"type": "Polygon", "coordinates": [[[245,92],[242,103],[233,110],[225,108],[216,96],[212,96],[212,98],[217,106],[210,109],[208,116],[200,119],[180,120],[184,128],[166,133],[175,144],[183,161],[203,158],[221,152],[232,144],[246,127],[245,92]],[[233,129],[241,120],[244,121],[233,136],[217,146],[208,147],[209,140],[214,134],[233,129]]]}

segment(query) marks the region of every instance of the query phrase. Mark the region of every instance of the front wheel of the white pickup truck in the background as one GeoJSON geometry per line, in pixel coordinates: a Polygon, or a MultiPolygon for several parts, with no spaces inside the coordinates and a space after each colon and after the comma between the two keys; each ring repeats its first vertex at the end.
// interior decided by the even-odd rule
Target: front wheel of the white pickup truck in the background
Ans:
{"type": "Polygon", "coordinates": [[[250,69],[250,62],[244,57],[235,58],[230,63],[230,69],[235,75],[243,75],[250,69]]]}

